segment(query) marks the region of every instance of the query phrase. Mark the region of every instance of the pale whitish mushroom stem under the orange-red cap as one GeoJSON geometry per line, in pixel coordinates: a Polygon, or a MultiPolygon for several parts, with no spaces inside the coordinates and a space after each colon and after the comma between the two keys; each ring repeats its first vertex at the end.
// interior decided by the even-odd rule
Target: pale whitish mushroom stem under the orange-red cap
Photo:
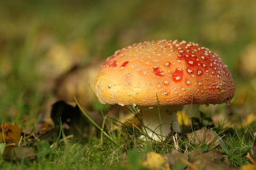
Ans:
{"type": "Polygon", "coordinates": [[[182,105],[177,106],[155,106],[154,108],[141,106],[143,114],[143,123],[145,125],[145,133],[155,140],[160,140],[161,136],[165,139],[165,136],[171,132],[171,129],[180,132],[177,111],[182,110],[182,105]],[[160,118],[159,118],[160,111],[160,118]],[[161,120],[161,126],[160,126],[161,120]],[[162,129],[162,130],[160,130],[162,129]],[[161,132],[162,131],[162,132],[161,132]]]}

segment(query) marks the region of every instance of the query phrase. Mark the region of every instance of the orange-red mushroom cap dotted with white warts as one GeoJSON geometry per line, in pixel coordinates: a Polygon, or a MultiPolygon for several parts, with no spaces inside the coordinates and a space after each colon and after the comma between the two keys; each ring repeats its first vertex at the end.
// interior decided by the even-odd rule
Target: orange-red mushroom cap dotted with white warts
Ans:
{"type": "Polygon", "coordinates": [[[141,42],[116,51],[96,81],[102,104],[230,103],[235,82],[218,55],[193,42],[141,42]]]}

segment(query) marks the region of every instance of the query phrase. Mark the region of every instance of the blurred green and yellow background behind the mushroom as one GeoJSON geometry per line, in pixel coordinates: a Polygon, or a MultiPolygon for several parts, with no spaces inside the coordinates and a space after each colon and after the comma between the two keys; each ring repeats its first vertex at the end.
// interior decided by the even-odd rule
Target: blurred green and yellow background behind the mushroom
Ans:
{"type": "Polygon", "coordinates": [[[217,53],[237,85],[228,113],[255,116],[255,0],[0,0],[0,120],[34,118],[73,65],[161,39],[217,53]]]}

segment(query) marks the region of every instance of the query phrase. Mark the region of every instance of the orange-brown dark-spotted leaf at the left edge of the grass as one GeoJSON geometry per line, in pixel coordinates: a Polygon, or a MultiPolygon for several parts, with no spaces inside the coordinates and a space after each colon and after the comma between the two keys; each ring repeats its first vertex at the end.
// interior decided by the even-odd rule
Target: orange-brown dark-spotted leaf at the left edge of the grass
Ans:
{"type": "Polygon", "coordinates": [[[16,122],[13,125],[6,122],[5,124],[0,125],[0,141],[18,142],[21,136],[21,131],[22,128],[19,128],[16,122]]]}

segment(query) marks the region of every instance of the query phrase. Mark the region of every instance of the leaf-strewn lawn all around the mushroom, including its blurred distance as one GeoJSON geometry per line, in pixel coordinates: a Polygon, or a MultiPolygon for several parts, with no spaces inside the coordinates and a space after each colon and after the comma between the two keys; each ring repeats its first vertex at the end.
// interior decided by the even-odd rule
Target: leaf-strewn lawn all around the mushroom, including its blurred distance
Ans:
{"type": "Polygon", "coordinates": [[[143,170],[159,160],[174,170],[204,169],[202,162],[212,169],[251,164],[255,11],[254,0],[0,1],[0,124],[22,128],[18,140],[0,138],[0,169],[143,170]],[[154,141],[140,130],[139,108],[101,105],[94,83],[115,51],[163,39],[217,53],[236,93],[229,106],[185,106],[182,133],[154,141]],[[188,139],[206,126],[220,137],[218,145],[188,139]],[[150,158],[150,152],[161,155],[150,158]]]}

